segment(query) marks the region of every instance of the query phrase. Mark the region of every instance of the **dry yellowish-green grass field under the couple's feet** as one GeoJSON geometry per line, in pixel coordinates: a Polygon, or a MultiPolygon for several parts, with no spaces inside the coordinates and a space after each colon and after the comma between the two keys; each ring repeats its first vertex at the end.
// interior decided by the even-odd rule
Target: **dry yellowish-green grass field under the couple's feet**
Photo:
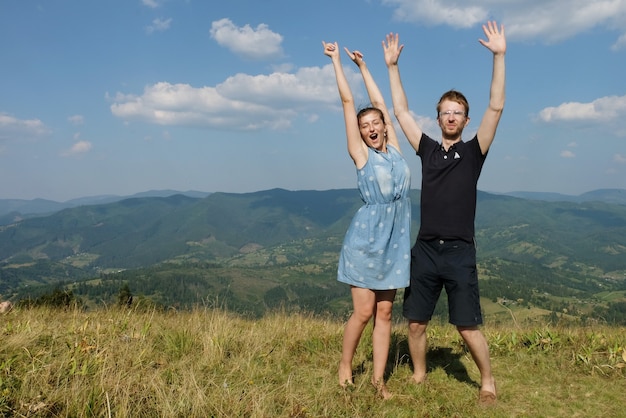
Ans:
{"type": "Polygon", "coordinates": [[[429,328],[430,373],[420,386],[408,384],[405,326],[394,327],[389,401],[369,384],[369,334],[355,357],[355,387],[339,388],[343,324],[335,319],[36,308],[0,317],[0,330],[2,416],[612,417],[626,410],[623,328],[488,324],[500,392],[488,409],[476,403],[476,368],[448,325],[429,328]]]}

